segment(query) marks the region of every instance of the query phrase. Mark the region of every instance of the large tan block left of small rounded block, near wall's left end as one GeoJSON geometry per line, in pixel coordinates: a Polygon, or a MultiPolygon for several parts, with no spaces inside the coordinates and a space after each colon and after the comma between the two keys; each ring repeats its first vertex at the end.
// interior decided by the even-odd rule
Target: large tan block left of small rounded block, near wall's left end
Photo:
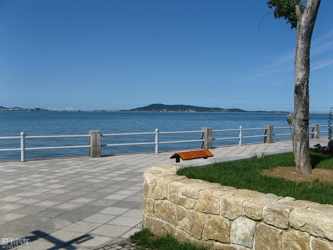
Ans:
{"type": "Polygon", "coordinates": [[[174,226],[178,225],[173,202],[167,200],[156,200],[154,212],[155,218],[165,220],[174,226]]]}

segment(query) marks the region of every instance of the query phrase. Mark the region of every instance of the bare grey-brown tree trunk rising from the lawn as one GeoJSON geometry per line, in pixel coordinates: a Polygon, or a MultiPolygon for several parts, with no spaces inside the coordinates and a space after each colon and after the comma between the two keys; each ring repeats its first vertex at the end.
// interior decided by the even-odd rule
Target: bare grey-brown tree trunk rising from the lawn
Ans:
{"type": "Polygon", "coordinates": [[[304,12],[296,5],[297,37],[295,56],[294,114],[287,116],[295,155],[296,171],[311,174],[309,148],[310,43],[320,0],[307,0],[304,12]]]}

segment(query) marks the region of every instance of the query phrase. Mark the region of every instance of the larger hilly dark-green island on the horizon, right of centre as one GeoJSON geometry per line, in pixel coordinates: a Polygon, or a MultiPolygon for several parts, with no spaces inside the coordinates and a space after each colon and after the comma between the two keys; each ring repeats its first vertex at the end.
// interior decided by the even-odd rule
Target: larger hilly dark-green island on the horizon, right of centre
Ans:
{"type": "Polygon", "coordinates": [[[151,104],[145,107],[134,109],[123,109],[121,112],[220,112],[220,113],[272,113],[272,114],[289,114],[286,111],[247,111],[243,109],[224,109],[224,108],[209,108],[197,107],[191,105],[165,105],[161,103],[151,104]]]}

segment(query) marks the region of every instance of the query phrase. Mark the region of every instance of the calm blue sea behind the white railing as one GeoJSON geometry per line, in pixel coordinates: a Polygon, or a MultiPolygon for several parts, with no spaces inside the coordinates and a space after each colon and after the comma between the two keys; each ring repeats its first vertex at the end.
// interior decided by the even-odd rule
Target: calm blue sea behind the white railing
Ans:
{"type": "MultiPolygon", "coordinates": [[[[327,125],[327,114],[310,114],[310,124],[327,125]]],[[[264,125],[287,127],[286,114],[248,113],[162,113],[162,112],[0,112],[0,137],[32,135],[78,135],[89,130],[101,130],[102,134],[201,130],[201,127],[218,129],[263,128],[264,125]]],[[[321,130],[327,130],[321,128],[321,130]]],[[[239,132],[213,133],[213,138],[237,137],[239,132]]],[[[277,130],[274,133],[290,133],[277,130]]],[[[243,131],[243,136],[260,135],[263,130],[243,131]]],[[[325,134],[321,134],[324,136],[325,134]]],[[[201,139],[200,134],[160,135],[160,141],[201,139]]],[[[290,136],[274,137],[274,140],[291,139],[290,136]]],[[[88,138],[26,139],[26,147],[88,145],[88,138]]],[[[104,137],[102,144],[154,142],[154,135],[104,137]]],[[[261,142],[263,138],[243,139],[243,143],[261,142]]],[[[238,144],[238,140],[214,141],[213,146],[238,144]]],[[[164,144],[160,151],[199,148],[200,142],[164,144]]],[[[20,140],[0,140],[0,149],[20,148],[20,140]]],[[[155,146],[125,146],[102,148],[102,155],[154,152],[155,146]]],[[[86,156],[88,149],[62,149],[26,151],[26,159],[86,156]]],[[[20,152],[0,152],[0,161],[20,160],[20,152]]]]}

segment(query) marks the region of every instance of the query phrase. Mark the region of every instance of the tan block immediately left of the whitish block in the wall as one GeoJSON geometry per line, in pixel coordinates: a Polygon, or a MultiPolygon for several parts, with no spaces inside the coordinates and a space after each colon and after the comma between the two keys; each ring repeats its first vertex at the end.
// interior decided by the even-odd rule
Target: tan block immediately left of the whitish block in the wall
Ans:
{"type": "Polygon", "coordinates": [[[217,240],[230,243],[230,221],[219,215],[207,215],[203,229],[203,240],[217,240]]]}

